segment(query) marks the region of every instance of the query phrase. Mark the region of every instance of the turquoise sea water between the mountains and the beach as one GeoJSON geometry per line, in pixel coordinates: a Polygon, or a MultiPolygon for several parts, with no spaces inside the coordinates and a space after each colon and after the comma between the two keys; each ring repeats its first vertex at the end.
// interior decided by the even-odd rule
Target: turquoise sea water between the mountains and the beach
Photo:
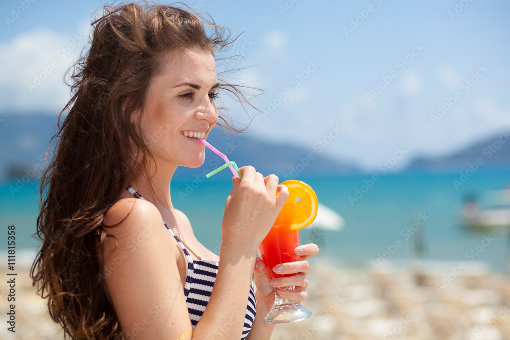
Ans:
{"type": "MultiPolygon", "coordinates": [[[[313,240],[320,245],[320,256],[361,267],[370,266],[379,256],[389,261],[416,256],[412,247],[415,238],[411,237],[416,233],[422,237],[424,259],[483,261],[494,271],[506,272],[507,230],[470,232],[460,227],[458,219],[466,196],[481,198],[487,190],[508,188],[510,171],[480,169],[455,188],[454,180],[460,176],[459,172],[386,174],[373,184],[372,174],[296,178],[310,184],[319,201],[345,219],[340,231],[303,229],[302,243],[313,240]],[[356,189],[360,190],[357,196],[356,189]],[[483,241],[487,238],[490,242],[483,241]]],[[[21,188],[13,192],[15,186],[15,182],[0,186],[0,243],[6,249],[6,227],[15,225],[17,249],[34,250],[38,242],[31,234],[38,213],[38,186],[21,187],[18,183],[21,188]]],[[[191,179],[174,176],[174,206],[189,217],[198,240],[216,253],[231,186],[228,175],[205,180],[200,175],[191,179]]]]}

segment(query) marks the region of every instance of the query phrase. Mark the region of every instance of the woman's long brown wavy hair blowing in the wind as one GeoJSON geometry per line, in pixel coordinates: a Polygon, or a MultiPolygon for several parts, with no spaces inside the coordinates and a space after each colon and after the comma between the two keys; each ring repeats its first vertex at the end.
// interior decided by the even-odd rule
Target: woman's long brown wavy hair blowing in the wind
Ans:
{"type": "MultiPolygon", "coordinates": [[[[72,97],[59,115],[55,152],[41,178],[36,235],[42,245],[31,277],[66,338],[123,339],[103,275],[106,228],[112,227],[103,221],[151,157],[132,116],[143,111],[166,51],[200,48],[218,58],[235,39],[212,19],[173,6],[105,7],[92,26],[90,49],[74,67],[72,97]]],[[[247,102],[239,86],[219,82],[247,102]]],[[[220,119],[222,127],[236,130],[229,114],[220,119]]]]}

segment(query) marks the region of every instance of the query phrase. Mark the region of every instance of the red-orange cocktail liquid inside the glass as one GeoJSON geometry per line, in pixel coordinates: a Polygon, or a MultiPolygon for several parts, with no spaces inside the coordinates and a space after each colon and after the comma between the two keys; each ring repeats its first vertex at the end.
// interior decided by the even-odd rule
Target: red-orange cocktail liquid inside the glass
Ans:
{"type": "Polygon", "coordinates": [[[259,252],[266,265],[265,270],[269,280],[291,276],[290,274],[277,274],[273,271],[273,268],[279,264],[293,262],[298,259],[294,249],[300,245],[299,230],[291,230],[294,208],[294,203],[284,204],[271,230],[260,244],[259,252]]]}

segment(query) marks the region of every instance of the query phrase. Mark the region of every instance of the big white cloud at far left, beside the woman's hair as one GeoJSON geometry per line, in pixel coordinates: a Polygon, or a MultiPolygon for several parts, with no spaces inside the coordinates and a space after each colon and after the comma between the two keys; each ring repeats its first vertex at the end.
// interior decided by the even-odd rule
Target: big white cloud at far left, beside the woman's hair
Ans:
{"type": "Polygon", "coordinates": [[[0,64],[4,66],[0,112],[58,113],[69,98],[64,74],[87,41],[88,32],[71,35],[37,29],[0,44],[0,64]]]}

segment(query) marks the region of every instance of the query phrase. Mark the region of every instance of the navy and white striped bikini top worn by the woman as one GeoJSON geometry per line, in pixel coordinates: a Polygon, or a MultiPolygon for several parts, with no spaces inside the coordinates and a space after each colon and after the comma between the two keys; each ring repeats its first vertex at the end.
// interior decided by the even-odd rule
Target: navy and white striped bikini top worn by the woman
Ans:
{"type": "MultiPolygon", "coordinates": [[[[129,192],[136,198],[144,199],[130,186],[127,186],[126,189],[129,190],[129,192]]],[[[202,317],[202,313],[206,310],[209,299],[211,298],[214,281],[218,274],[219,263],[212,260],[193,260],[184,244],[166,223],[165,227],[172,233],[172,236],[183,250],[186,261],[188,262],[188,273],[186,274],[184,295],[186,297],[186,305],[188,306],[191,325],[195,328],[196,324],[202,317]]],[[[243,336],[241,337],[241,340],[245,340],[251,330],[251,325],[255,318],[255,306],[256,299],[252,282],[246,306],[246,316],[244,317],[243,336]]]]}

